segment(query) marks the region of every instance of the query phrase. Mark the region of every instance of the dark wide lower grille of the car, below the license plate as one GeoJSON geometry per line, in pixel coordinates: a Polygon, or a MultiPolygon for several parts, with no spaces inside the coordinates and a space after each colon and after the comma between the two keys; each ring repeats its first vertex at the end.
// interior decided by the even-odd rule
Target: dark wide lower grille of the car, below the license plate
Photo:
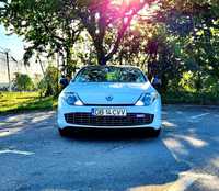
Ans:
{"type": "Polygon", "coordinates": [[[94,116],[91,113],[67,113],[66,122],[91,126],[136,126],[153,122],[153,114],[127,113],[127,116],[94,116]]]}

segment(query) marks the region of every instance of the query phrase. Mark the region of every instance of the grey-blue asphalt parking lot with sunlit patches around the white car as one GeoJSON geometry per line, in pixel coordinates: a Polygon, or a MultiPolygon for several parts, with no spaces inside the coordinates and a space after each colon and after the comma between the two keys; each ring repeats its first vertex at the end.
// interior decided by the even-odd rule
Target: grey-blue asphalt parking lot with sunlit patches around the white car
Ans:
{"type": "Polygon", "coordinates": [[[147,132],[60,137],[54,111],[0,116],[1,191],[219,190],[219,108],[166,105],[147,132]]]}

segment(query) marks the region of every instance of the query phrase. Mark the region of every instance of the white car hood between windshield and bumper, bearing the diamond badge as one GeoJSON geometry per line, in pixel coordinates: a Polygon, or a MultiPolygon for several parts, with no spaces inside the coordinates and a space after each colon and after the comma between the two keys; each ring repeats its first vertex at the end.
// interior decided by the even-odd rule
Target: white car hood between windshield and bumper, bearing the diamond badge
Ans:
{"type": "Polygon", "coordinates": [[[66,92],[76,92],[84,104],[135,104],[142,93],[152,92],[150,82],[71,82],[66,92]]]}

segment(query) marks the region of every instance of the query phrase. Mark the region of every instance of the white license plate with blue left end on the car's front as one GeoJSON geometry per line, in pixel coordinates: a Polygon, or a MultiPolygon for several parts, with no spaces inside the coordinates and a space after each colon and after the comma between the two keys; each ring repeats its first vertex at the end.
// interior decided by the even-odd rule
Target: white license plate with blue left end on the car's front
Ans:
{"type": "Polygon", "coordinates": [[[126,109],[92,109],[95,116],[126,116],[126,109]]]}

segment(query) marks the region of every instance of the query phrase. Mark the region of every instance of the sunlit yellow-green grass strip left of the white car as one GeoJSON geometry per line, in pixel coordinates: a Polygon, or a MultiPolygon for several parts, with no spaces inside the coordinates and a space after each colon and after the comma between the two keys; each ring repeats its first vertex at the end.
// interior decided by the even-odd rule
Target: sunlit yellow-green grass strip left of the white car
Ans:
{"type": "Polygon", "coordinates": [[[53,97],[41,98],[38,92],[0,92],[0,114],[57,106],[53,97]]]}

